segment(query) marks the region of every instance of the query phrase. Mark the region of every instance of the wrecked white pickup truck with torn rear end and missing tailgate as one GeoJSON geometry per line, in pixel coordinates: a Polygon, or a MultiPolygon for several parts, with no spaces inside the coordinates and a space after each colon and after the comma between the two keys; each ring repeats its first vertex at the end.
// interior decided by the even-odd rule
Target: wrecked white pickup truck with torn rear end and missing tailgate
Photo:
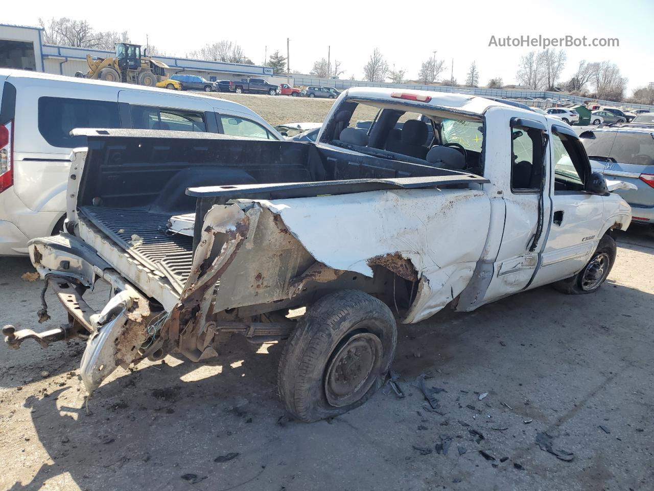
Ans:
{"type": "Polygon", "coordinates": [[[591,173],[566,124],[474,96],[353,88],[315,145],[77,134],[88,149],[73,153],[65,231],[29,243],[69,323],[3,332],[12,347],[88,336],[89,392],[118,365],[198,361],[216,355],[219,335],[239,333],[288,338],[286,409],[334,416],[383,383],[396,319],[553,282],[591,293],[615,260],[611,230],[630,223],[610,193],[621,183],[591,173]],[[370,128],[354,128],[371,108],[370,128]],[[97,280],[113,295],[98,313],[83,299],[97,280]]]}

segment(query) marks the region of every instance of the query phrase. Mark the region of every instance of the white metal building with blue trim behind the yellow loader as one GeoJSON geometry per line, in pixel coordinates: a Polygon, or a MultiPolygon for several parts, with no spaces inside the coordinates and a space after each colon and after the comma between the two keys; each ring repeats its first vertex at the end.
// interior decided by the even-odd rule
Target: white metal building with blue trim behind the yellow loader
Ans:
{"type": "MultiPolygon", "coordinates": [[[[114,52],[70,46],[53,46],[43,44],[41,27],[12,26],[0,24],[0,67],[56,73],[58,75],[75,75],[76,71],[88,70],[86,55],[94,58],[114,56],[114,52]]],[[[200,75],[207,80],[241,80],[246,77],[272,77],[273,70],[257,65],[242,65],[205,60],[189,60],[171,56],[156,56],[170,69],[167,75],[184,73],[200,75]]],[[[286,81],[286,77],[279,81],[286,81]]],[[[274,82],[274,81],[273,81],[274,82]]]]}

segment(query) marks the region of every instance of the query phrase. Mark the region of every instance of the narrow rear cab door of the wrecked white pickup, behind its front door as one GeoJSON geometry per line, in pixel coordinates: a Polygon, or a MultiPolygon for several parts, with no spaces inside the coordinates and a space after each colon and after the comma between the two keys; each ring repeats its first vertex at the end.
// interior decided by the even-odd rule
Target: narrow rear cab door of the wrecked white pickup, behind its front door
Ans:
{"type": "Polygon", "coordinates": [[[551,211],[545,118],[511,115],[515,113],[504,108],[500,118],[493,110],[487,113],[485,177],[487,170],[491,181],[505,183],[496,192],[504,196],[506,218],[492,279],[479,304],[506,297],[529,284],[538,268],[551,211]],[[490,177],[490,173],[494,175],[490,177]]]}

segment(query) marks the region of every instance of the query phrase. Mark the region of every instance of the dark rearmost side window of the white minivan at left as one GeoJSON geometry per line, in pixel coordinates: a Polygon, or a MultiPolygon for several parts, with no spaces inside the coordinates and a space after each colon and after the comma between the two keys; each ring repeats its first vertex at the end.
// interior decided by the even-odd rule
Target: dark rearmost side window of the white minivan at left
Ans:
{"type": "Polygon", "coordinates": [[[53,147],[72,149],[86,145],[85,136],[71,136],[73,128],[120,128],[118,103],[39,98],[39,132],[53,147]]]}

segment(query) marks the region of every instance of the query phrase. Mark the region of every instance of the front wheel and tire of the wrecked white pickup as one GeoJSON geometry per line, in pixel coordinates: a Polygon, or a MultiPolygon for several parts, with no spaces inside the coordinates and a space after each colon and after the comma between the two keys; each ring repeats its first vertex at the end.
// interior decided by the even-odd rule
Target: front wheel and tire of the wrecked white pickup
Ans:
{"type": "Polygon", "coordinates": [[[613,268],[616,250],[615,240],[609,234],[605,234],[581,271],[571,278],[552,283],[552,286],[568,295],[585,295],[597,291],[613,268]]]}

